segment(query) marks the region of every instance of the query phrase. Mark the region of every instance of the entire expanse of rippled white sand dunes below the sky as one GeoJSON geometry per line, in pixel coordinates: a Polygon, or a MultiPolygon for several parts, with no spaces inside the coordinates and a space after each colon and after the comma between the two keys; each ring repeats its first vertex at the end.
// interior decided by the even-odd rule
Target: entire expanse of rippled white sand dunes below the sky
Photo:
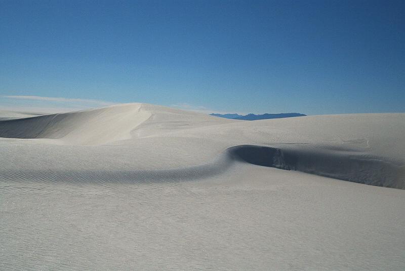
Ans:
{"type": "Polygon", "coordinates": [[[405,114],[0,111],[1,270],[404,270],[405,114]]]}

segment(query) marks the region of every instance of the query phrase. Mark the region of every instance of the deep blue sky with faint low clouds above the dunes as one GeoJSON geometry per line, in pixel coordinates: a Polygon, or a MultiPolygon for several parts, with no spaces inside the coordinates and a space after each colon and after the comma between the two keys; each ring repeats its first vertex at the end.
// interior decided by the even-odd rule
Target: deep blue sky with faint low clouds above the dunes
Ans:
{"type": "Polygon", "coordinates": [[[404,14],[404,1],[0,0],[0,109],[405,112],[404,14]]]}

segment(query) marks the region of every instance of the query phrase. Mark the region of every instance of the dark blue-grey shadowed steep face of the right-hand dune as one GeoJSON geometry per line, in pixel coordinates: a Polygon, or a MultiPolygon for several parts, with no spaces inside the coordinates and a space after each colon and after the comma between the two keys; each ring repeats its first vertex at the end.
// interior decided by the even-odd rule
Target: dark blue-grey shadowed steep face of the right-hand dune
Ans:
{"type": "Polygon", "coordinates": [[[327,152],[314,149],[286,149],[241,145],[228,149],[231,157],[247,163],[297,170],[325,177],[373,186],[405,189],[404,168],[383,157],[355,152],[327,152]]]}

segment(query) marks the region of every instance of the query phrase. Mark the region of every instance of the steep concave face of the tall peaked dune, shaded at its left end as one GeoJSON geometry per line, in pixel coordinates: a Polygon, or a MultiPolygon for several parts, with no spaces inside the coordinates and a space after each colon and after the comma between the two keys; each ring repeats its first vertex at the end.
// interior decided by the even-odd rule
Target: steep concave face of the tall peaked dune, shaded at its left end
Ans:
{"type": "Polygon", "coordinates": [[[0,137],[58,139],[65,144],[99,145],[130,139],[130,132],[151,114],[142,104],[58,113],[0,121],[0,137]]]}

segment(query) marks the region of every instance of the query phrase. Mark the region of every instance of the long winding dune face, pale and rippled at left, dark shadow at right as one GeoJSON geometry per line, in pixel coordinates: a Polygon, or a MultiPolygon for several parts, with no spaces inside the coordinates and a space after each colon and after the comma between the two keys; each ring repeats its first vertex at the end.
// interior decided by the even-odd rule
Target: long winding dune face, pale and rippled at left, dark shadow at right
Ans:
{"type": "Polygon", "coordinates": [[[71,183],[181,182],[219,175],[235,163],[326,176],[349,182],[405,189],[404,167],[376,156],[350,152],[322,152],[238,145],[226,149],[212,162],[185,168],[162,170],[0,170],[0,180],[71,183]]]}

